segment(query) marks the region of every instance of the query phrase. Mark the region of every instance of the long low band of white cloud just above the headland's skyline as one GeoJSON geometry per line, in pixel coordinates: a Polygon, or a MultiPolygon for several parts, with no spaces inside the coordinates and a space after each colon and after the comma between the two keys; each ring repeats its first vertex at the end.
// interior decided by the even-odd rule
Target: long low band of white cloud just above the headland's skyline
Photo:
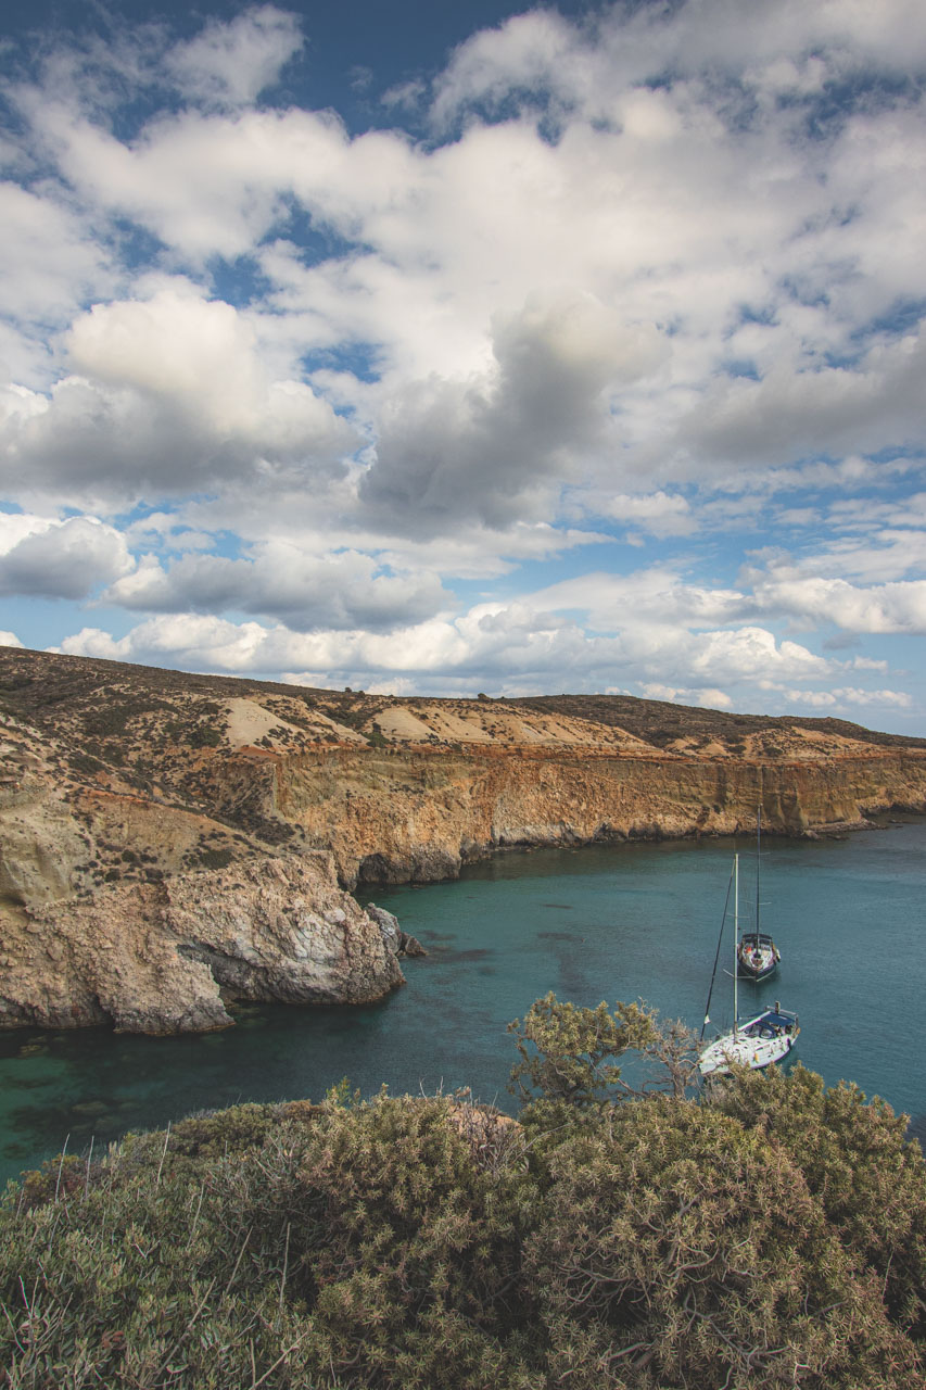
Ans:
{"type": "Polygon", "coordinates": [[[235,623],[213,614],[159,614],[113,639],[83,628],[63,649],[216,671],[328,671],[335,684],[370,688],[412,680],[416,688],[474,692],[605,689],[626,682],[684,691],[695,703],[731,703],[730,689],[819,681],[831,666],[806,648],[756,627],[691,632],[683,627],[590,635],[578,623],[521,603],[482,603],[455,619],[437,616],[395,631],[235,623]],[[566,680],[564,680],[566,673],[566,680]],[[723,689],[726,687],[726,692],[723,689]]]}

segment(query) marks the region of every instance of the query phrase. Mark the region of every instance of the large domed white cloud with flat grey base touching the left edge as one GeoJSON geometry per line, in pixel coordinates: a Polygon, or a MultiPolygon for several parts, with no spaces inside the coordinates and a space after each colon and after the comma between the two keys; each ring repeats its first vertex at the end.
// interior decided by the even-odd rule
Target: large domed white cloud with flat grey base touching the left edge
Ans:
{"type": "Polygon", "coordinates": [[[341,471],[356,432],[303,381],[270,379],[253,325],[186,282],[96,304],[50,396],[0,398],[10,495],[122,502],[291,473],[341,471]]]}

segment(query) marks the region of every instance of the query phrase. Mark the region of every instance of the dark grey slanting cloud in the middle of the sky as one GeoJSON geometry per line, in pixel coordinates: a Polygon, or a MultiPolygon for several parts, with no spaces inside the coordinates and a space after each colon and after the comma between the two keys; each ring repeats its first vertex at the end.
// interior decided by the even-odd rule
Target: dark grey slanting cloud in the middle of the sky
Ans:
{"type": "Polygon", "coordinates": [[[606,386],[665,356],[652,325],[616,322],[590,295],[534,296],[496,320],[492,346],[484,377],[416,382],[384,407],[360,496],[398,530],[542,517],[583,456],[608,446],[606,386]]]}

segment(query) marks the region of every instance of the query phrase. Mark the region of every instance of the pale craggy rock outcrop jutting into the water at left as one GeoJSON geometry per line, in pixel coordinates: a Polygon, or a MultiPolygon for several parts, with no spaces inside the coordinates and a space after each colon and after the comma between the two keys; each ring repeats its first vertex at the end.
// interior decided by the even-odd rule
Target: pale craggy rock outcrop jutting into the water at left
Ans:
{"type": "Polygon", "coordinates": [[[367,1004],[402,983],[400,945],[327,853],[107,884],[7,920],[0,1024],[185,1033],[227,1027],[229,999],[367,1004]]]}

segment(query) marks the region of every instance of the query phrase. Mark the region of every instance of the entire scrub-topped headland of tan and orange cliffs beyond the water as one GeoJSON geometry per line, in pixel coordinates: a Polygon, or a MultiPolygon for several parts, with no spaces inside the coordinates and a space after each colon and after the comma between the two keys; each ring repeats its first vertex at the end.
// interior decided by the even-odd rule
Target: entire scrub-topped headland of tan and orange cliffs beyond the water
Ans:
{"type": "Polygon", "coordinates": [[[374,999],[359,883],[512,845],[926,810],[926,739],[631,696],[366,695],[0,648],[0,1026],[222,1027],[374,999]]]}

